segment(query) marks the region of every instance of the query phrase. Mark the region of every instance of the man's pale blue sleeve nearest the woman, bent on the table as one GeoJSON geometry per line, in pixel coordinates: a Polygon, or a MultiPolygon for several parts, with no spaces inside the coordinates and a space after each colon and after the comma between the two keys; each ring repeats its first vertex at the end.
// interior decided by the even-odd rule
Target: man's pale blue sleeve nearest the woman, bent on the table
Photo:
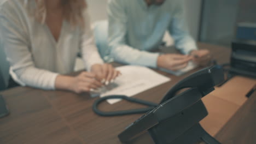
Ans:
{"type": "Polygon", "coordinates": [[[115,61],[121,63],[155,68],[157,66],[158,53],[140,51],[126,43],[127,16],[125,2],[129,3],[127,0],[112,0],[108,3],[108,46],[110,55],[115,61]]]}

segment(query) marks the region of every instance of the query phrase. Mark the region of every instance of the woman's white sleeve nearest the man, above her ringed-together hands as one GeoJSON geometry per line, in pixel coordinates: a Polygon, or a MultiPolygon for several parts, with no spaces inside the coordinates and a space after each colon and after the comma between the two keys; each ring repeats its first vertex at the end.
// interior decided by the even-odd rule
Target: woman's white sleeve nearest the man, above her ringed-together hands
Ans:
{"type": "Polygon", "coordinates": [[[103,64],[104,62],[98,53],[98,49],[94,41],[94,34],[92,33],[90,17],[87,10],[84,13],[84,21],[85,27],[81,37],[82,43],[80,48],[85,67],[90,71],[92,65],[103,64]]]}

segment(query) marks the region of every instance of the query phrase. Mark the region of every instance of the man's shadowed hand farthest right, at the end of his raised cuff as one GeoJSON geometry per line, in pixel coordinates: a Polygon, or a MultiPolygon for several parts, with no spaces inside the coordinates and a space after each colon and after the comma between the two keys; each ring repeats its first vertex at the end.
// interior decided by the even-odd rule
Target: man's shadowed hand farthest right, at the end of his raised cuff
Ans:
{"type": "Polygon", "coordinates": [[[190,55],[193,57],[193,62],[201,66],[206,66],[211,60],[208,50],[194,50],[190,52],[190,55]]]}

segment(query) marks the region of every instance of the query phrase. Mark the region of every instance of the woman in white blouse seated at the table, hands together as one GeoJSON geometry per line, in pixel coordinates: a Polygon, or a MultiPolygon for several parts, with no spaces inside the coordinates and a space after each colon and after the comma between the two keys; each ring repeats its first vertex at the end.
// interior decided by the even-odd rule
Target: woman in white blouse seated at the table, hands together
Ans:
{"type": "Polygon", "coordinates": [[[0,23],[9,73],[22,86],[81,93],[119,75],[98,54],[85,1],[5,0],[0,23]],[[64,75],[73,71],[79,51],[90,72],[64,75]]]}

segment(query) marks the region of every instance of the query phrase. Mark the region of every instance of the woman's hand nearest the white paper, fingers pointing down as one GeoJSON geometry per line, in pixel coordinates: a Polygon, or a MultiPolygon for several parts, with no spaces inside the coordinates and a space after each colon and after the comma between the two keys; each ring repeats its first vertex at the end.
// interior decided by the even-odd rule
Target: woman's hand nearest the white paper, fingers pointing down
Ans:
{"type": "Polygon", "coordinates": [[[91,72],[96,74],[96,79],[105,85],[113,82],[121,74],[111,64],[94,64],[91,67],[91,72]]]}

